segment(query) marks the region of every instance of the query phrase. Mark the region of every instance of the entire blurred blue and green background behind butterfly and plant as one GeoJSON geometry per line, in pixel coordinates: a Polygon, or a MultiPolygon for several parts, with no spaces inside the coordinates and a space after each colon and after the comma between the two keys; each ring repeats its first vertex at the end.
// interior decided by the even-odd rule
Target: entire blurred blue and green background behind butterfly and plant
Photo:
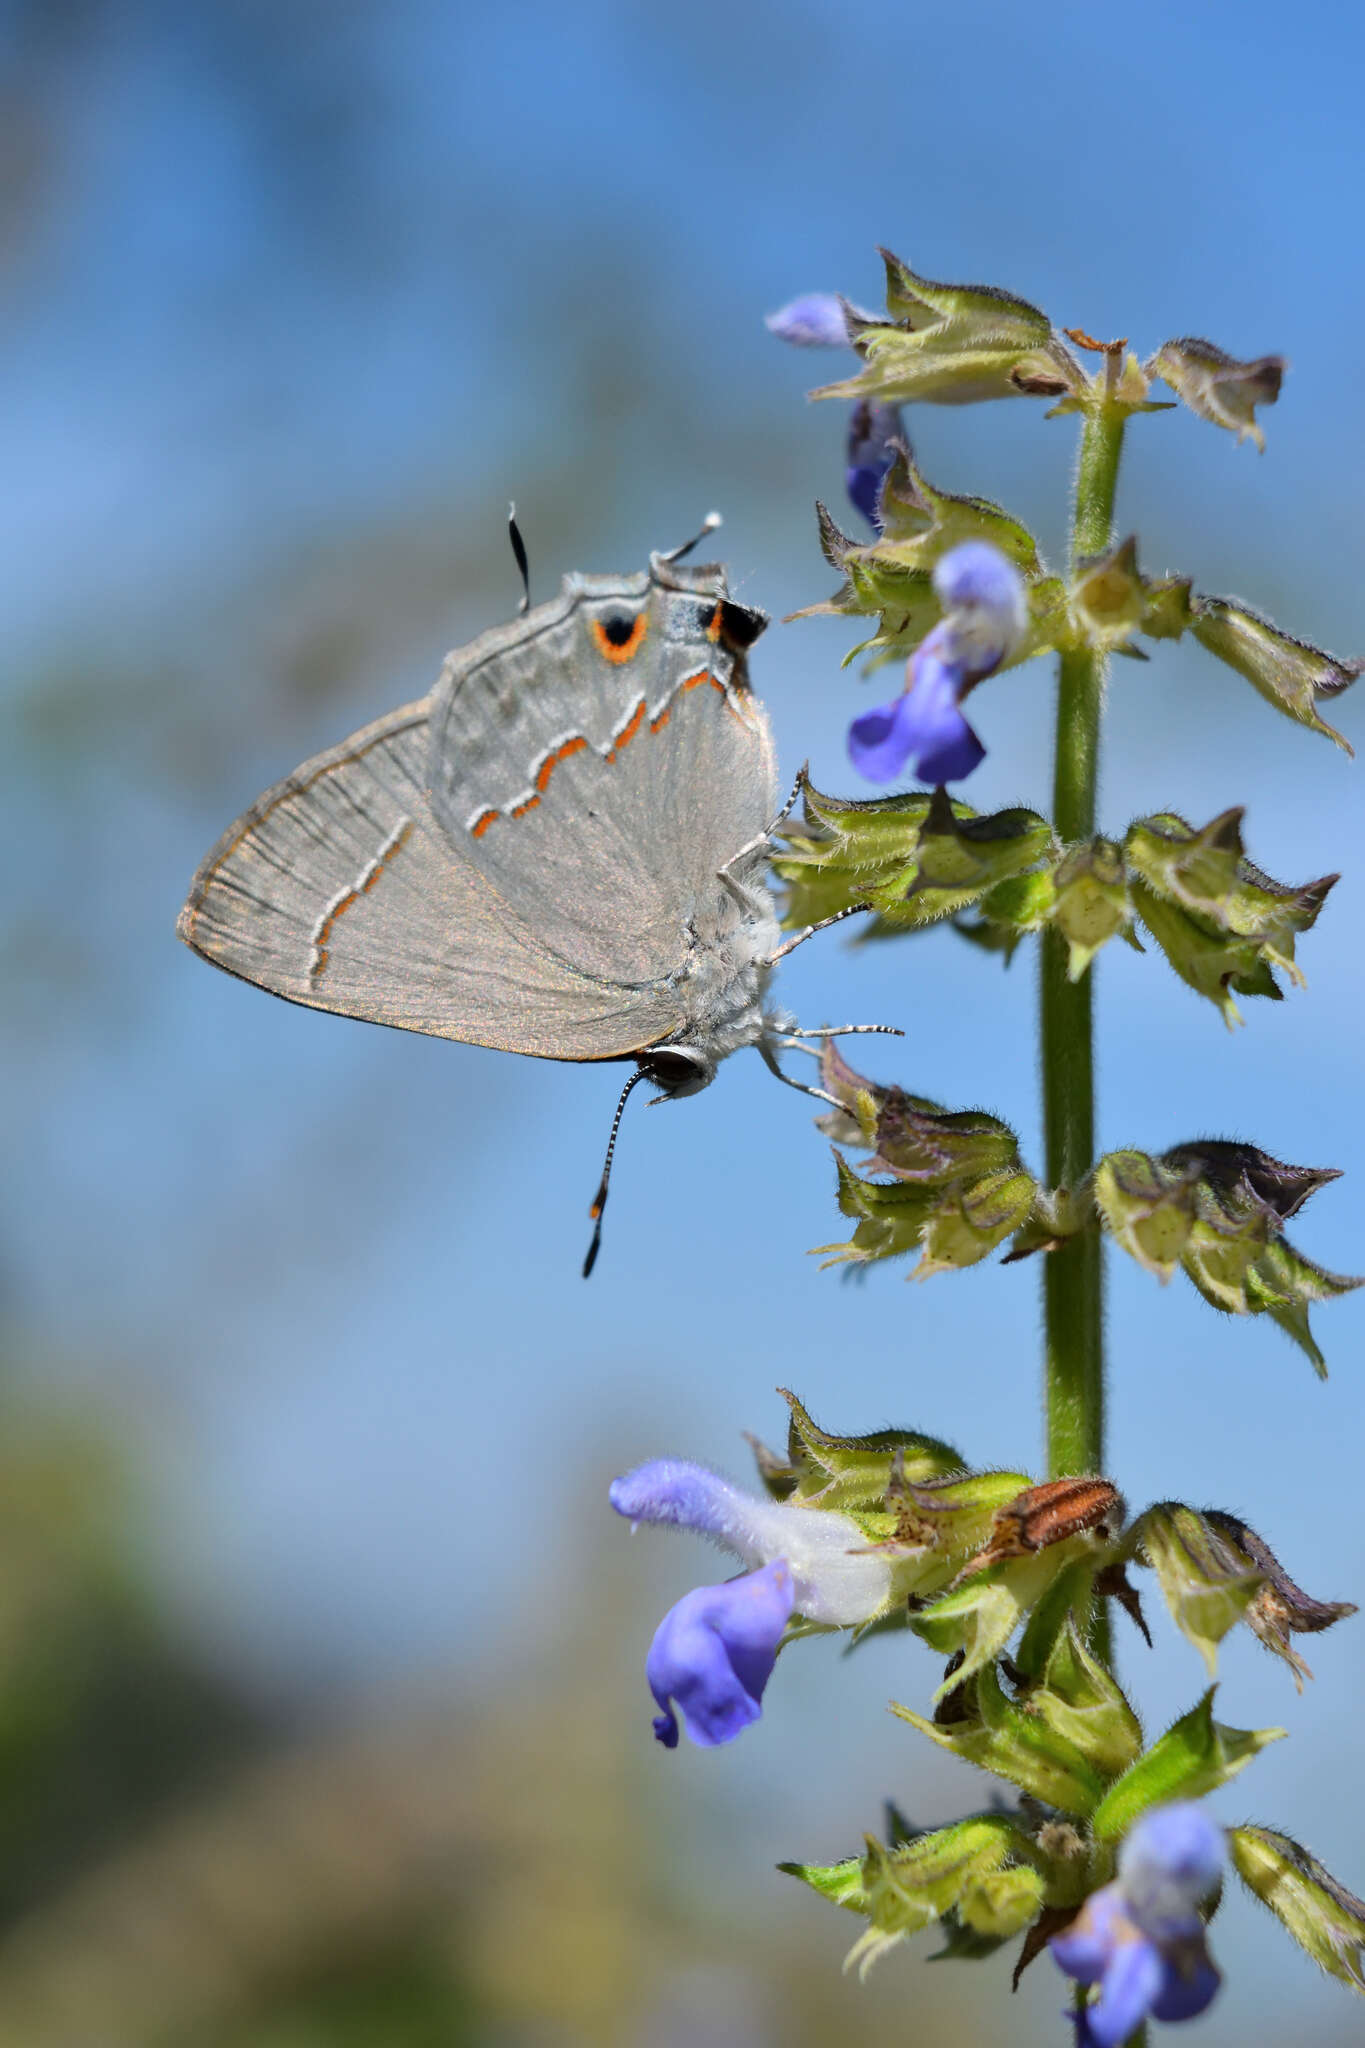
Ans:
{"type": "MultiPolygon", "coordinates": [[[[614,1073],[313,1016],[172,938],[262,788],[420,694],[505,618],[516,498],[538,596],[643,563],[718,504],[733,588],[827,594],[827,358],[763,311],[878,289],[874,244],[1142,352],[1285,350],[1269,453],[1138,422],[1144,565],[1365,649],[1361,29],[1345,10],[1005,0],[952,10],[585,0],[0,4],[0,2044],[767,2048],[1058,2042],[1007,1962],[841,1978],[855,1923],[774,1872],[886,1796],[978,1798],[884,1712],[927,1651],[784,1659],[718,1753],[649,1737],[643,1653],[716,1575],[606,1483],[653,1452],[745,1470],[778,1382],[1036,1464],[1036,1274],[862,1288],[827,1147],[757,1061],[626,1128],[598,1278],[585,1204],[614,1073]],[[810,375],[812,373],[812,375],[810,375]]],[[[911,420],[925,471],[1052,547],[1072,426],[911,420]]],[[[849,786],[833,621],[753,674],[784,770],[849,786]]],[[[1103,817],[1248,803],[1273,874],[1345,881],[1308,993],[1218,1016],[1101,963],[1101,1141],[1248,1137],[1349,1178],[1297,1225],[1361,1251],[1359,770],[1199,649],[1115,676],[1103,817]]],[[[976,698],[972,801],[1046,803],[1050,686],[976,698]]],[[[1340,723],[1361,739],[1353,700],[1340,723]]],[[[900,1022],[886,1079],[984,1102],[1040,1157],[1031,975],[952,932],[784,975],[804,1022],[900,1022]]],[[[1111,1274],[1111,1470],[1238,1509],[1310,1591],[1361,1597],[1363,1296],[1318,1386],[1269,1325],[1111,1274]]],[[[1220,1800],[1365,1888],[1365,1634],[1295,1700],[1246,1640],[1220,1712],[1287,1722],[1220,1800]]],[[[1121,1638],[1158,1729],[1203,1677],[1121,1638]]],[[[1248,1901],[1197,2040],[1359,2040],[1248,1901]]]]}

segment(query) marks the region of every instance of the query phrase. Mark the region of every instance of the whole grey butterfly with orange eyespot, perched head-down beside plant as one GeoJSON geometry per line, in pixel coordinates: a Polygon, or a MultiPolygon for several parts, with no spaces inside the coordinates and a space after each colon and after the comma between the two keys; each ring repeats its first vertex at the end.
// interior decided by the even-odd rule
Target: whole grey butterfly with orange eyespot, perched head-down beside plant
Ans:
{"type": "Polygon", "coordinates": [[[585,1272],[630,1087],[696,1094],[745,1044],[790,1081],[778,1049],[798,1036],[763,1008],[806,936],[782,944],[763,879],[776,758],[745,653],[767,616],[686,553],[526,598],[428,696],[258,797],[178,922],[215,967],[313,1010],[634,1059],[585,1272]]]}

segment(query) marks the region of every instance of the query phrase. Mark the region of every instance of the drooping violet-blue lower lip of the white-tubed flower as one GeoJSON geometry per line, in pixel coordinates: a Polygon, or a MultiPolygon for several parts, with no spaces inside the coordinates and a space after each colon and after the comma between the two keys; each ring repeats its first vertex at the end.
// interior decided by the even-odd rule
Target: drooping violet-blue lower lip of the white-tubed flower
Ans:
{"type": "Polygon", "coordinates": [[[673,1700],[702,1749],[733,1743],[759,1718],[794,1597],[792,1573],[778,1559],[726,1585],[698,1585],[669,1608],[645,1659],[665,1749],[677,1749],[673,1700]]]}

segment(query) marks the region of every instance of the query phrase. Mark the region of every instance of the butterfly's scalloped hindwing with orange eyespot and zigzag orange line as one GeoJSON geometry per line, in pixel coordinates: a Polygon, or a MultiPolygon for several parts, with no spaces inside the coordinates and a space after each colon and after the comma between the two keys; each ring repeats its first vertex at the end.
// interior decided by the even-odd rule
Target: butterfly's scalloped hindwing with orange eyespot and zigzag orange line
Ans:
{"type": "MultiPolygon", "coordinates": [[[[739,909],[718,883],[776,803],[745,647],[761,612],[718,567],[655,557],[452,655],[428,786],[446,838],[559,956],[620,987],[686,973],[739,909]]],[[[751,856],[757,879],[763,852],[751,856]]]]}

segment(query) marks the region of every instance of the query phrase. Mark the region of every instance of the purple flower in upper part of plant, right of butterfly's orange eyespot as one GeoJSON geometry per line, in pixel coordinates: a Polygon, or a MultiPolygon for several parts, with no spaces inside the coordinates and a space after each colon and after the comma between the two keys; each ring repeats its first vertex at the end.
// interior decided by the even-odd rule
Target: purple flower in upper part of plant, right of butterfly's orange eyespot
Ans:
{"type": "Polygon", "coordinates": [[[909,760],[921,782],[960,782],[986,750],[962,715],[966,692],[1023,639],[1027,598],[1019,571],[986,541],[939,557],[933,588],[943,616],[907,664],[905,692],[849,727],[849,756],[872,782],[890,782],[909,760]]]}

